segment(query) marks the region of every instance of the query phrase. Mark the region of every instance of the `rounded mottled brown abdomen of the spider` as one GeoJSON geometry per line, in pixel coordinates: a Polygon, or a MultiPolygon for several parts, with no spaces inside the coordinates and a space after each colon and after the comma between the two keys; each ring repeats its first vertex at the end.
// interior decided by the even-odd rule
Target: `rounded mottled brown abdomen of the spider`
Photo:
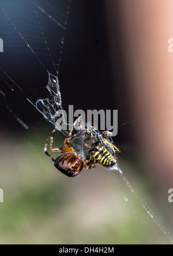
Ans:
{"type": "Polygon", "coordinates": [[[63,174],[74,177],[81,173],[84,168],[84,161],[74,152],[66,152],[58,155],[54,166],[63,174]]]}

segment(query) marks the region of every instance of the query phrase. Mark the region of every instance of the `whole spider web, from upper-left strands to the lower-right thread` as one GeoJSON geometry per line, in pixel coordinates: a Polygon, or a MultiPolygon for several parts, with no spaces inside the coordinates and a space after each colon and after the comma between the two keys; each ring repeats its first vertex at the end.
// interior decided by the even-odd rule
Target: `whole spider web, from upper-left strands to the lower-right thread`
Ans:
{"type": "MultiPolygon", "coordinates": [[[[5,61],[6,57],[2,57],[2,68],[1,70],[1,97],[3,102],[5,102],[5,107],[13,114],[13,117],[24,127],[28,129],[28,125],[21,120],[20,117],[13,112],[11,107],[6,103],[6,95],[10,91],[17,92],[17,94],[22,94],[24,99],[27,99],[32,106],[34,106],[43,117],[54,125],[56,124],[57,117],[56,113],[58,110],[62,109],[62,99],[61,92],[59,89],[58,72],[59,64],[61,62],[62,48],[65,39],[65,31],[67,25],[67,19],[69,17],[70,1],[59,1],[59,6],[57,9],[51,4],[51,1],[36,1],[32,3],[24,3],[23,1],[18,1],[17,4],[7,5],[5,1],[0,9],[1,12],[1,35],[4,38],[5,43],[5,53],[13,53],[11,60],[11,65],[9,62],[5,61]],[[18,15],[20,13],[20,15],[18,15]],[[48,28],[52,27],[52,31],[48,28]],[[55,32],[56,31],[56,32],[55,32]],[[57,44],[57,47],[55,47],[57,44]],[[51,49],[54,49],[52,51],[51,49]],[[55,50],[57,49],[57,51],[55,50]],[[16,54],[19,56],[26,57],[26,62],[29,60],[33,64],[32,76],[37,77],[39,84],[38,88],[29,86],[27,81],[29,66],[26,63],[25,70],[22,70],[24,80],[18,79],[18,72],[14,72],[15,76],[9,70],[13,70],[12,64],[13,58],[16,60],[16,54]],[[30,56],[29,56],[30,55],[30,56]],[[40,66],[39,72],[36,69],[37,65],[40,66]],[[8,66],[8,68],[6,68],[8,66]],[[11,69],[10,69],[11,68],[11,69]],[[40,77],[47,77],[47,85],[40,84],[40,77]],[[45,90],[46,89],[46,90],[45,90]],[[42,93],[40,93],[42,91],[42,93]],[[32,94],[32,99],[29,98],[29,94],[32,94]],[[46,97],[40,97],[39,94],[46,95],[46,97]],[[35,98],[35,100],[33,99],[35,98]]],[[[19,58],[20,60],[20,58],[19,58]]],[[[168,88],[169,90],[169,88],[168,88]]],[[[157,110],[156,110],[157,111],[157,110]]],[[[151,115],[153,113],[150,113],[151,115]]],[[[147,118],[148,116],[142,116],[137,118],[140,119],[147,118]]],[[[124,125],[124,124],[123,124],[124,125]]],[[[157,218],[155,213],[152,212],[150,207],[141,198],[138,192],[133,188],[130,182],[123,175],[120,167],[117,168],[119,175],[122,180],[125,181],[127,187],[141,203],[142,207],[156,223],[159,229],[167,236],[167,238],[173,242],[172,236],[161,224],[160,220],[157,218]]],[[[125,201],[129,201],[125,197],[125,201]]]]}

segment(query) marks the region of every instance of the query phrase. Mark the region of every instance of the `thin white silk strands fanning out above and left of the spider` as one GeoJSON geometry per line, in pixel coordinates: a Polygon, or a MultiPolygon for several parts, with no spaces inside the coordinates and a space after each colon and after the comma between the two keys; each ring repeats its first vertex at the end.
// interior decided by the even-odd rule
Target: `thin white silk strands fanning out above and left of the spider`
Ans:
{"type": "MultiPolygon", "coordinates": [[[[66,9],[65,9],[65,12],[64,12],[64,13],[59,12],[59,13],[62,14],[62,16],[63,16],[63,18],[59,18],[59,19],[61,20],[61,23],[58,22],[58,20],[56,20],[54,17],[52,17],[51,14],[49,14],[48,12],[46,12],[46,10],[44,10],[41,6],[37,5],[36,3],[33,3],[33,6],[35,6],[35,10],[32,10],[32,13],[35,15],[35,19],[37,20],[37,23],[39,24],[39,26],[35,27],[35,29],[36,29],[36,28],[39,28],[39,29],[40,29],[40,31],[36,31],[36,30],[35,30],[35,32],[37,32],[37,33],[43,35],[42,37],[40,37],[40,36],[33,36],[33,38],[39,38],[39,39],[40,39],[40,42],[39,42],[39,43],[42,43],[41,39],[43,39],[43,43],[44,43],[45,46],[46,46],[46,50],[47,50],[48,54],[47,54],[47,53],[36,53],[36,51],[35,51],[36,48],[33,47],[32,44],[29,44],[29,42],[31,42],[31,41],[33,42],[33,40],[30,40],[30,39],[29,39],[29,38],[31,38],[31,35],[29,35],[29,36],[28,36],[28,35],[25,35],[22,31],[20,31],[20,28],[16,26],[15,22],[13,22],[13,20],[12,20],[11,16],[9,15],[9,13],[7,13],[5,9],[1,8],[2,13],[3,13],[3,14],[5,15],[5,17],[6,17],[7,23],[9,23],[9,24],[11,25],[11,27],[14,29],[14,32],[12,32],[12,33],[13,33],[13,34],[16,33],[18,36],[20,36],[20,38],[22,39],[22,42],[24,42],[25,46],[29,49],[28,52],[27,52],[27,51],[17,51],[17,52],[20,52],[20,53],[29,53],[29,52],[30,52],[30,53],[34,54],[35,57],[36,57],[36,59],[37,59],[37,61],[39,61],[39,63],[43,66],[43,68],[44,68],[44,69],[46,70],[46,72],[48,73],[48,83],[50,83],[50,77],[54,77],[54,79],[51,80],[52,84],[50,84],[50,87],[47,88],[48,90],[50,90],[50,88],[52,89],[52,92],[50,93],[50,94],[52,94],[52,95],[51,95],[52,99],[53,99],[53,97],[54,97],[54,93],[57,91],[56,88],[59,88],[59,84],[58,84],[58,72],[59,72],[59,65],[60,65],[61,57],[62,57],[63,43],[64,43],[64,40],[65,40],[65,31],[66,31],[67,20],[68,20],[68,17],[69,17],[70,3],[71,3],[71,1],[68,0],[68,1],[67,1],[67,5],[66,5],[66,9]],[[52,58],[51,49],[49,48],[48,42],[47,42],[47,40],[46,40],[46,34],[44,33],[45,31],[44,31],[44,29],[43,29],[43,25],[42,25],[41,20],[40,20],[39,12],[42,12],[43,15],[45,14],[53,23],[55,23],[56,25],[58,25],[58,27],[61,28],[62,36],[59,36],[59,43],[61,43],[61,47],[60,47],[60,49],[59,49],[58,64],[56,64],[56,63],[54,62],[53,58],[52,58]],[[54,71],[55,71],[55,73],[56,73],[56,76],[51,75],[51,72],[46,68],[46,65],[44,64],[44,62],[42,61],[42,59],[40,59],[40,58],[38,57],[38,54],[49,55],[49,56],[50,56],[51,62],[52,62],[52,64],[53,64],[53,66],[54,66],[54,71]],[[57,84],[55,84],[55,83],[57,83],[57,84]]],[[[49,4],[49,6],[50,6],[50,4],[49,4]]],[[[54,8],[53,8],[53,9],[54,9],[54,8]]],[[[46,17],[46,16],[45,16],[45,17],[46,17]]],[[[18,24],[18,23],[17,23],[17,24],[18,24]]],[[[25,25],[28,26],[28,24],[25,24],[25,25]]],[[[17,36],[16,36],[16,37],[17,37],[17,36]]],[[[19,41],[19,42],[20,42],[20,41],[19,41]]],[[[41,48],[37,48],[37,49],[41,49],[41,48]]],[[[8,50],[8,52],[9,52],[9,50],[8,50]]],[[[14,50],[14,52],[16,52],[16,51],[14,50]]],[[[56,56],[55,56],[55,57],[56,57],[56,56]]],[[[16,83],[16,81],[15,81],[14,79],[12,79],[12,77],[10,77],[10,76],[8,75],[8,72],[5,72],[1,67],[0,67],[0,69],[1,69],[1,71],[4,73],[4,75],[7,77],[7,79],[10,79],[10,81],[12,81],[12,83],[13,83],[18,89],[20,89],[20,90],[23,92],[22,88],[18,85],[18,83],[16,83]]],[[[3,78],[2,78],[2,80],[3,80],[3,78]]],[[[4,81],[4,80],[3,80],[3,81],[4,81]]],[[[14,91],[14,89],[9,85],[9,83],[7,83],[6,81],[4,81],[4,83],[5,83],[7,86],[9,86],[12,91],[14,91]]],[[[58,91],[57,91],[57,92],[58,92],[58,91]]],[[[4,92],[1,91],[1,94],[3,95],[4,92]]],[[[37,105],[38,105],[38,106],[39,106],[39,105],[41,106],[42,103],[44,103],[44,101],[41,101],[41,99],[37,100],[37,102],[34,102],[34,103],[33,103],[30,99],[28,99],[27,97],[26,97],[26,99],[27,99],[33,106],[35,106],[37,110],[39,110],[39,107],[37,107],[37,105]]],[[[60,92],[57,94],[57,100],[58,100],[58,102],[54,102],[54,104],[52,104],[51,99],[50,99],[50,102],[48,102],[48,103],[49,103],[49,106],[50,106],[50,111],[48,111],[48,113],[47,113],[48,118],[52,115],[52,109],[53,109],[54,105],[55,105],[55,107],[56,107],[57,109],[61,109],[61,94],[60,94],[60,92]]],[[[46,103],[46,102],[45,102],[45,103],[46,103]]],[[[44,105],[44,104],[43,104],[43,105],[44,105]]],[[[6,106],[7,106],[7,105],[6,105],[6,106]]],[[[43,106],[43,107],[44,107],[44,106],[43,106]]],[[[10,109],[10,107],[7,107],[7,108],[10,109]]],[[[43,110],[43,111],[44,111],[44,110],[43,110]]],[[[10,113],[12,113],[12,112],[13,112],[13,111],[10,110],[10,113]]],[[[40,110],[39,110],[39,112],[42,113],[40,110]]],[[[43,114],[43,113],[42,113],[42,114],[43,114]]],[[[54,113],[54,114],[55,114],[55,113],[54,113]]],[[[44,116],[44,118],[47,117],[47,116],[45,116],[44,114],[43,114],[43,116],[44,116]]],[[[16,120],[18,121],[18,123],[20,123],[24,128],[28,129],[28,126],[27,126],[24,122],[22,122],[22,120],[21,120],[19,117],[17,117],[15,114],[14,114],[14,118],[16,118],[16,120]]],[[[48,118],[46,118],[46,120],[48,120],[48,118]]],[[[50,120],[48,120],[48,121],[50,121],[50,120]]],[[[54,124],[54,120],[52,120],[51,123],[54,124]]]]}

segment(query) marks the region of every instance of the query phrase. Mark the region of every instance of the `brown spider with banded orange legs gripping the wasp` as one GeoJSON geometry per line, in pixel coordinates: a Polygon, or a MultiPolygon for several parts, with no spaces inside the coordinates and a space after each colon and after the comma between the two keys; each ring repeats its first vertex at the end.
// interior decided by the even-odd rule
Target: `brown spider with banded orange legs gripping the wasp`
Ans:
{"type": "MultiPolygon", "coordinates": [[[[80,118],[80,117],[78,117],[80,118]]],[[[78,120],[77,118],[77,120],[78,120]]],[[[89,162],[91,162],[91,159],[93,157],[93,154],[95,152],[96,146],[93,148],[93,150],[90,153],[89,159],[83,158],[81,155],[77,154],[76,151],[73,149],[73,147],[70,146],[70,140],[73,139],[78,133],[72,135],[74,125],[77,123],[77,120],[74,122],[72,129],[69,132],[69,135],[67,138],[63,141],[64,146],[63,147],[55,147],[53,148],[53,141],[54,141],[54,132],[56,129],[54,129],[51,132],[51,135],[47,136],[46,143],[44,145],[44,153],[54,162],[54,166],[60,170],[63,174],[74,177],[79,175],[82,172],[82,169],[85,168],[86,170],[89,170],[93,168],[97,164],[97,162],[100,161],[104,148],[102,149],[102,152],[100,152],[99,157],[97,157],[96,161],[94,161],[92,164],[87,166],[89,162]],[[61,151],[61,154],[58,155],[57,158],[53,158],[48,152],[47,152],[47,143],[50,139],[50,150],[51,151],[61,151]]],[[[80,123],[79,123],[80,125],[80,123]]]]}

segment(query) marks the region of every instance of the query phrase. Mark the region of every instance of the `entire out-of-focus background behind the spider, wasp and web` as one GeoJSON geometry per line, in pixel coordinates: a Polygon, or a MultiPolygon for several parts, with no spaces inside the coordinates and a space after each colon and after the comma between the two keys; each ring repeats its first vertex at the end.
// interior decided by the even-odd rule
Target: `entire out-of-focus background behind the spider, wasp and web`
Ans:
{"type": "MultiPolygon", "coordinates": [[[[173,176],[173,58],[168,51],[173,1],[73,0],[69,14],[68,1],[36,2],[55,20],[64,23],[68,16],[65,34],[42,12],[36,24],[31,1],[1,2],[0,243],[171,243],[118,173],[97,165],[71,179],[54,168],[43,153],[54,127],[27,98],[46,98],[43,65],[54,72],[46,55],[50,53],[58,64],[61,58],[63,109],[118,109],[113,139],[121,150],[119,166],[173,232],[168,202],[173,176]]],[[[57,132],[56,147],[63,138],[57,132]]]]}

